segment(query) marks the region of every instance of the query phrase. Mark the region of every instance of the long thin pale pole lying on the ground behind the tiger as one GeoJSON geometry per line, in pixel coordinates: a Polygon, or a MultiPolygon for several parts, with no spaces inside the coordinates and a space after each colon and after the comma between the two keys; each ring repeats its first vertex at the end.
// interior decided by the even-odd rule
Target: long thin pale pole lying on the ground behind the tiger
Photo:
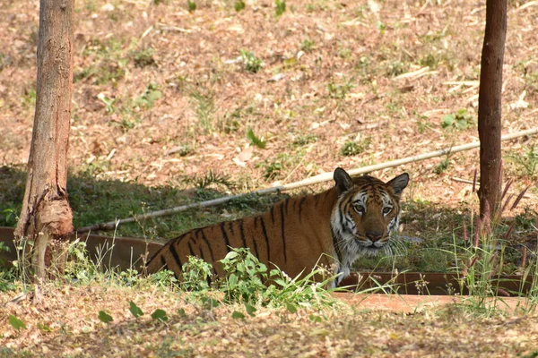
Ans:
{"type": "MultiPolygon", "coordinates": [[[[513,140],[515,138],[523,137],[525,135],[535,134],[536,132],[538,132],[538,127],[533,128],[533,129],[529,129],[529,130],[526,130],[526,131],[522,131],[522,132],[515,132],[515,133],[504,135],[504,136],[501,137],[501,141],[513,140]]],[[[389,161],[389,162],[376,164],[376,165],[373,165],[373,166],[363,166],[363,167],[360,167],[360,168],[355,168],[355,169],[348,170],[347,172],[348,172],[349,175],[360,175],[360,174],[373,172],[375,170],[386,169],[388,167],[393,167],[393,166],[402,166],[402,165],[407,164],[407,163],[417,162],[417,161],[424,160],[424,159],[429,159],[429,158],[436,158],[436,157],[444,156],[444,155],[447,155],[447,154],[450,154],[450,153],[456,153],[458,151],[464,151],[464,150],[469,150],[469,149],[478,148],[478,147],[480,147],[480,142],[476,141],[476,142],[473,142],[473,143],[467,143],[467,144],[459,145],[459,146],[456,146],[456,147],[451,147],[451,148],[447,148],[447,149],[440,149],[440,150],[436,150],[436,151],[431,151],[430,153],[424,153],[424,154],[420,154],[420,155],[417,155],[417,156],[412,156],[412,157],[407,157],[407,158],[402,158],[402,159],[396,159],[396,160],[392,160],[392,161],[389,161]]],[[[164,216],[175,214],[175,213],[178,213],[178,212],[181,212],[181,211],[186,211],[188,209],[198,209],[198,208],[212,207],[214,205],[223,204],[223,203],[228,202],[230,200],[242,198],[242,197],[247,196],[247,195],[253,195],[253,194],[254,195],[265,195],[265,194],[270,194],[270,193],[273,193],[273,192],[284,192],[284,191],[289,191],[291,189],[300,188],[301,186],[307,186],[307,185],[312,185],[312,184],[316,184],[316,183],[323,183],[323,182],[327,182],[327,181],[330,181],[330,180],[333,180],[333,172],[323,173],[323,174],[320,174],[320,175],[312,176],[312,177],[310,177],[308,179],[304,179],[304,180],[301,180],[301,181],[295,182],[295,183],[289,183],[289,184],[283,184],[283,185],[274,186],[274,187],[271,187],[271,188],[259,189],[259,190],[256,190],[255,192],[247,192],[247,193],[242,193],[242,194],[237,194],[237,195],[230,195],[230,196],[226,196],[226,197],[219,198],[219,199],[207,200],[207,201],[202,201],[202,202],[195,202],[193,204],[182,205],[182,206],[176,207],[176,208],[163,209],[163,210],[153,211],[153,212],[146,213],[146,214],[135,215],[134,217],[127,217],[127,218],[119,219],[119,220],[116,220],[116,221],[110,221],[108,223],[101,223],[101,224],[96,224],[96,225],[93,225],[93,226],[79,227],[79,228],[76,229],[76,231],[78,233],[85,233],[85,232],[93,231],[93,230],[111,230],[111,229],[117,227],[120,224],[132,223],[134,221],[143,220],[143,219],[146,219],[146,218],[149,218],[149,217],[164,217],[164,216]]]]}

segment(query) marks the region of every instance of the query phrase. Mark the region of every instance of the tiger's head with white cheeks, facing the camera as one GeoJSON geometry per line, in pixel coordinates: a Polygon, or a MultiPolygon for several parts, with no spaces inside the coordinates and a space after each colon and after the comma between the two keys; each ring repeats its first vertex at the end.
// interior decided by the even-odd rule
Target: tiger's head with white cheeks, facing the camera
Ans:
{"type": "Polygon", "coordinates": [[[342,168],[334,171],[338,201],[331,216],[335,249],[349,267],[360,254],[391,254],[389,240],[400,220],[400,197],[409,183],[404,173],[383,183],[369,175],[351,179],[342,168]]]}

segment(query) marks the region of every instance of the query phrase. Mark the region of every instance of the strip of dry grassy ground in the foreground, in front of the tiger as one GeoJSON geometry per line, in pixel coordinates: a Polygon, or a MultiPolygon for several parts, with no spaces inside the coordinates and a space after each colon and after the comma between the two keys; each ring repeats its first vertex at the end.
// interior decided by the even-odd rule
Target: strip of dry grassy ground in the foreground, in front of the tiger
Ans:
{"type": "Polygon", "coordinates": [[[185,295],[103,286],[49,287],[48,300],[8,303],[0,294],[0,348],[9,356],[534,356],[538,350],[535,317],[500,315],[481,319],[454,307],[421,313],[338,310],[259,309],[246,320],[231,318],[239,306],[204,311],[185,295]],[[134,319],[128,302],[144,316],[134,319]],[[152,320],[155,309],[169,320],[152,320]],[[186,316],[178,314],[184,309],[186,316]],[[98,320],[104,310],[114,321],[98,320]],[[58,316],[57,312],[62,315],[58,316]],[[24,320],[16,331],[7,315],[24,320]],[[310,319],[310,315],[318,321],[310,319]],[[10,351],[11,350],[11,351],[10,351]]]}

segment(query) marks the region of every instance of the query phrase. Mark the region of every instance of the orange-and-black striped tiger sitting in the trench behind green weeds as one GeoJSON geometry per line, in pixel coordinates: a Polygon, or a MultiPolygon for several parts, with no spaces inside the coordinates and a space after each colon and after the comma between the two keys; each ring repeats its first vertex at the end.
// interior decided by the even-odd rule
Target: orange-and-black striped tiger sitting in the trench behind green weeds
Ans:
{"type": "Polygon", "coordinates": [[[188,256],[195,256],[223,277],[220,260],[232,248],[248,248],[260,262],[289,277],[318,266],[331,268],[335,278],[330,286],[338,286],[361,255],[392,254],[391,238],[398,230],[409,175],[384,183],[369,175],[351,179],[337,167],[333,176],[334,186],[325,192],[290,197],[264,214],[195,228],[171,239],[148,261],[146,272],[167,268],[179,278],[188,256]]]}

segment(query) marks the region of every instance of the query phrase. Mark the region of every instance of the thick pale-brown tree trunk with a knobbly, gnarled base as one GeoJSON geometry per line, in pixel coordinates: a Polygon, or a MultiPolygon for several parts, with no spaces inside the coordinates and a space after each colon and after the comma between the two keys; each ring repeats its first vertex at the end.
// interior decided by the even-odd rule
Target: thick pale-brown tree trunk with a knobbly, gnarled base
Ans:
{"type": "Polygon", "coordinates": [[[37,278],[44,278],[52,261],[61,259],[62,255],[58,254],[62,251],[61,243],[73,231],[73,214],[66,191],[73,10],[74,0],[40,0],[36,112],[26,192],[15,229],[19,240],[24,237],[34,242],[31,264],[37,278]],[[47,255],[46,265],[48,247],[51,254],[47,255]]]}

